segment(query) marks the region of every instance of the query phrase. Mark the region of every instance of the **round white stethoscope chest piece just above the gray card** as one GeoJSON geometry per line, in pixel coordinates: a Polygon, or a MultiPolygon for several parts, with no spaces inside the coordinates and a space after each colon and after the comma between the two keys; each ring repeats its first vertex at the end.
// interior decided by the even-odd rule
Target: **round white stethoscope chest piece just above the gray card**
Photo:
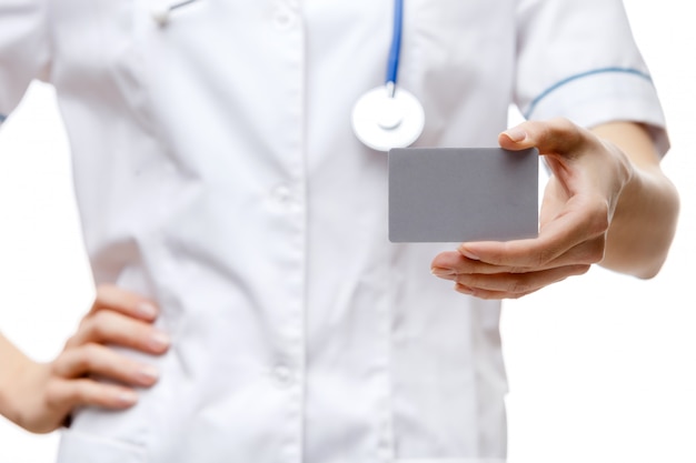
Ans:
{"type": "Polygon", "coordinates": [[[425,111],[416,97],[397,88],[378,87],[365,93],[352,108],[356,137],[378,151],[414,143],[425,127],[425,111]]]}

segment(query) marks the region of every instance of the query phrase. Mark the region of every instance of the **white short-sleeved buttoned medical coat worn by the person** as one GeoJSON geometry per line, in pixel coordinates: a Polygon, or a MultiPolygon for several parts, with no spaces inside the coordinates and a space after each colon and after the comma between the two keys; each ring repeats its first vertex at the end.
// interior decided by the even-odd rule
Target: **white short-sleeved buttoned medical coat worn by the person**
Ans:
{"type": "MultiPolygon", "coordinates": [[[[430,275],[454,244],[388,242],[386,157],[350,129],[392,2],[198,0],[166,27],[157,6],[0,0],[0,120],[56,87],[96,282],[153,298],[173,340],[59,461],[503,461],[499,303],[430,275]]],[[[495,145],[515,102],[666,149],[617,0],[406,0],[399,83],[418,145],[495,145]]]]}

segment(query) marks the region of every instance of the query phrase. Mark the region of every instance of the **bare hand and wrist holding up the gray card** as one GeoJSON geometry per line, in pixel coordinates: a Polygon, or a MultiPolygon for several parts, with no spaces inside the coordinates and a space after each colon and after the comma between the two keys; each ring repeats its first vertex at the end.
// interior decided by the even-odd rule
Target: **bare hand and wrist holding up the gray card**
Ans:
{"type": "Polygon", "coordinates": [[[647,129],[630,122],[594,130],[565,119],[528,121],[500,147],[536,147],[553,175],[533,240],[463,243],[432,261],[436,276],[481,299],[530,294],[599,264],[649,279],[674,238],[679,199],[659,168],[647,129]]]}

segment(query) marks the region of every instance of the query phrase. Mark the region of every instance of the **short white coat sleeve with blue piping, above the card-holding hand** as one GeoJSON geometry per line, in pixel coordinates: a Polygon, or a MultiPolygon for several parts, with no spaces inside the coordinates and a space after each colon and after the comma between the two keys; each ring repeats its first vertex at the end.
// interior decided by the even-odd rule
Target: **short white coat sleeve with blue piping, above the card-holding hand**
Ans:
{"type": "Polygon", "coordinates": [[[664,154],[665,117],[622,0],[519,0],[515,100],[527,119],[634,121],[664,154]]]}

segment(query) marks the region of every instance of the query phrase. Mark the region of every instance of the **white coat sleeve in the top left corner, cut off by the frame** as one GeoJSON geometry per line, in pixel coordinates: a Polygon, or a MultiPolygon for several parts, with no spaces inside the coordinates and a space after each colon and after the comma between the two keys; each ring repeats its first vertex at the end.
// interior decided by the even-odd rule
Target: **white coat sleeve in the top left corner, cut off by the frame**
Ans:
{"type": "Polygon", "coordinates": [[[49,0],[0,0],[0,123],[34,79],[48,80],[49,0]]]}

